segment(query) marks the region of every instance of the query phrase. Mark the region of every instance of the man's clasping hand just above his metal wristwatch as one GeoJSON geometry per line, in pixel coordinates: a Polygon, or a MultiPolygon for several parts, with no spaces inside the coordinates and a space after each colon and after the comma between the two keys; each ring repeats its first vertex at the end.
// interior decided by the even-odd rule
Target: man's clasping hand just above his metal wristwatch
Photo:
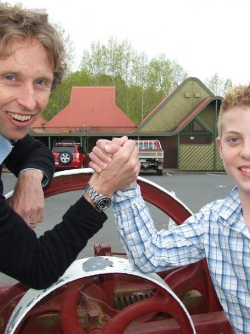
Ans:
{"type": "Polygon", "coordinates": [[[138,148],[134,140],[126,140],[112,155],[111,162],[101,173],[94,173],[90,184],[103,195],[112,196],[116,190],[136,185],[140,171],[138,148]]]}

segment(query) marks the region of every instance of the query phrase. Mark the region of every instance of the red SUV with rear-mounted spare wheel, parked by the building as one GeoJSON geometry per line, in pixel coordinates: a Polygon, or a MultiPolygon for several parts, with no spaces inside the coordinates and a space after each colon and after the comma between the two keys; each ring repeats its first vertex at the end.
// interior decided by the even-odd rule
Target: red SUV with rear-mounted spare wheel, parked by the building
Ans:
{"type": "Polygon", "coordinates": [[[75,141],[57,142],[52,149],[56,169],[88,167],[89,158],[75,141]]]}

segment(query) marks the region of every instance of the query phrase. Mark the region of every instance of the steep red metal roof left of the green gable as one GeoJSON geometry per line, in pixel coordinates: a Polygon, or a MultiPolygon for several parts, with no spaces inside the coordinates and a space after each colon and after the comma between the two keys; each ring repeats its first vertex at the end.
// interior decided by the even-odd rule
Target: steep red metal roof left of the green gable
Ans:
{"type": "Polygon", "coordinates": [[[62,129],[71,133],[119,133],[135,132],[137,126],[116,106],[115,87],[72,87],[69,105],[46,123],[46,131],[60,133],[62,129]]]}

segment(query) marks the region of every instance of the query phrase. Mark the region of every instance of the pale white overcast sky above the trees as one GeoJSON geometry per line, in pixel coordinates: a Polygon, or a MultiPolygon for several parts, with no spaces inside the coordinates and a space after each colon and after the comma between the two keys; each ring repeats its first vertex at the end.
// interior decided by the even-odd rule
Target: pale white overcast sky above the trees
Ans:
{"type": "MultiPolygon", "coordinates": [[[[3,0],[5,2],[5,0],[3,0]]],[[[215,73],[233,84],[250,82],[249,0],[8,0],[43,8],[69,33],[76,67],[91,42],[128,39],[149,59],[161,53],[189,76],[215,73]]]]}

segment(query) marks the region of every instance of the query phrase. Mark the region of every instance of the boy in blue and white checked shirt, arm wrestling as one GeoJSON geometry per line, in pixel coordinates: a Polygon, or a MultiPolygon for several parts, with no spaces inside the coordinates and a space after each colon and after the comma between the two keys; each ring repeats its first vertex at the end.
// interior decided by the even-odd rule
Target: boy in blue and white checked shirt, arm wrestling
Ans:
{"type": "MultiPolygon", "coordinates": [[[[98,142],[105,151],[107,142],[98,142]]],[[[206,257],[211,278],[236,333],[250,333],[250,86],[231,89],[221,104],[217,145],[236,186],[183,224],[157,231],[140,187],[116,192],[113,212],[132,266],[154,272],[206,257]]],[[[93,156],[92,156],[93,157],[93,156]]],[[[95,161],[95,157],[94,157],[95,161]]]]}

